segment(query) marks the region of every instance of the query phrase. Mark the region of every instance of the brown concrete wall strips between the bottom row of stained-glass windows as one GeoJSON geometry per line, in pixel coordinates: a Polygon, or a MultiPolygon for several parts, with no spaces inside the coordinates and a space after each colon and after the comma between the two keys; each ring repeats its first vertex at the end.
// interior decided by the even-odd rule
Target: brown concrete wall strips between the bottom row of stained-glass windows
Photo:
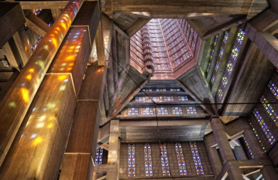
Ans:
{"type": "MultiPolygon", "coordinates": [[[[181,142],[179,142],[181,143],[181,142]]],[[[204,169],[204,174],[209,175],[213,174],[211,170],[211,165],[208,161],[208,155],[206,154],[206,149],[204,147],[203,141],[197,141],[197,148],[199,150],[199,156],[202,161],[202,166],[204,169]]],[[[135,143],[135,153],[136,153],[136,178],[145,178],[145,154],[144,154],[144,145],[145,143],[135,143]]],[[[181,143],[183,148],[183,156],[186,161],[186,170],[188,176],[197,176],[195,165],[193,161],[193,156],[190,150],[189,142],[181,143]]],[[[175,143],[166,143],[167,154],[170,165],[170,172],[173,177],[181,177],[179,174],[179,165],[177,161],[175,143]]],[[[154,177],[163,177],[162,168],[161,168],[161,159],[160,159],[160,147],[158,143],[152,143],[152,166],[153,166],[153,178],[154,177]]],[[[128,143],[121,143],[120,147],[120,179],[129,179],[128,173],[128,143]]],[[[170,175],[171,177],[171,175],[170,175]]],[[[150,178],[150,177],[148,177],[150,178]]],[[[148,179],[146,178],[146,179],[148,179]]],[[[132,177],[130,178],[132,179],[132,177]]]]}

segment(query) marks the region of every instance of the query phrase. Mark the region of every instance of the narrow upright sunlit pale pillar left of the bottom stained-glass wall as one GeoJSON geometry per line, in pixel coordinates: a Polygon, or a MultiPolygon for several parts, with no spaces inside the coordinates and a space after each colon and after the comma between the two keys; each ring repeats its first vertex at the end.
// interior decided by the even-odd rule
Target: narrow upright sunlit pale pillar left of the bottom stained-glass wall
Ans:
{"type": "Polygon", "coordinates": [[[120,162],[120,139],[119,139],[119,120],[111,119],[110,125],[110,138],[109,138],[109,150],[108,150],[108,168],[107,170],[107,180],[117,180],[119,179],[119,162],[120,162]]]}

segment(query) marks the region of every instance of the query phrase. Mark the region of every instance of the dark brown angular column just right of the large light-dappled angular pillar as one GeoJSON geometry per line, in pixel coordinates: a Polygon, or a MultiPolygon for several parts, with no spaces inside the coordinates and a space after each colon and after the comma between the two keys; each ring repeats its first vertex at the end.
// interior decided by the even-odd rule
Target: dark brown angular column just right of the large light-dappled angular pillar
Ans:
{"type": "Polygon", "coordinates": [[[88,66],[60,179],[92,179],[99,132],[99,98],[103,96],[104,66],[88,66]]]}

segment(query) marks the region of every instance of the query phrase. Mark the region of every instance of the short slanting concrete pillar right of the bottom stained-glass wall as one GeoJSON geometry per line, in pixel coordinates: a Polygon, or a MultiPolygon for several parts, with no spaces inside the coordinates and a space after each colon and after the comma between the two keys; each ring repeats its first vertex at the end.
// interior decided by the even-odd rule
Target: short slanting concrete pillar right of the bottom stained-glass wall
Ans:
{"type": "Polygon", "coordinates": [[[236,160],[220,118],[211,118],[211,128],[224,162],[236,160]]]}

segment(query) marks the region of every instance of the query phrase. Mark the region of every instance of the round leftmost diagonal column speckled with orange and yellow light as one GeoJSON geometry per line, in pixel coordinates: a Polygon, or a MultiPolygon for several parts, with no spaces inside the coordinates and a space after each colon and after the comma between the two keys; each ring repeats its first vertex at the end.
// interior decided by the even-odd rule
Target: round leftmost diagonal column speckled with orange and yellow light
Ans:
{"type": "MultiPolygon", "coordinates": [[[[83,0],[67,3],[0,104],[0,165],[83,0]]],[[[63,72],[63,71],[60,71],[63,72]]],[[[65,76],[65,79],[67,75],[65,76]]],[[[54,78],[55,79],[55,78],[54,78]]],[[[54,87],[53,87],[54,88],[54,87]]],[[[57,88],[57,87],[56,87],[57,88]]],[[[53,91],[55,91],[54,89],[53,91]]],[[[50,104],[49,104],[50,105],[50,104]]],[[[41,168],[41,167],[40,167],[41,168]]]]}

